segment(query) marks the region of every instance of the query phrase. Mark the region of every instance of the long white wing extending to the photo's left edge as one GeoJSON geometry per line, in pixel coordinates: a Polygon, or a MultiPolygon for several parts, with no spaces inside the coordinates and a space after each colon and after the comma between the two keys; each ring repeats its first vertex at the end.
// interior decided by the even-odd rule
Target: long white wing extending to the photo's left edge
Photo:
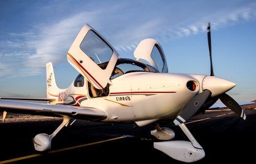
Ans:
{"type": "Polygon", "coordinates": [[[22,113],[28,115],[70,117],[80,120],[102,120],[106,117],[103,110],[92,107],[67,105],[48,105],[44,103],[21,102],[0,99],[0,112],[22,113]]]}

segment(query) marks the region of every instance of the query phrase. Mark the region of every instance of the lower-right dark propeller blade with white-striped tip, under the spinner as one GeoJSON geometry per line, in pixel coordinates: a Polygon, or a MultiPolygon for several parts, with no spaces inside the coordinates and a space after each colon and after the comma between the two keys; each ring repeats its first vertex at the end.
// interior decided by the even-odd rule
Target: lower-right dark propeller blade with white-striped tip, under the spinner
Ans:
{"type": "Polygon", "coordinates": [[[226,93],[220,96],[220,101],[224,103],[230,110],[237,113],[238,116],[242,117],[244,120],[246,118],[244,110],[242,107],[230,96],[226,93]]]}

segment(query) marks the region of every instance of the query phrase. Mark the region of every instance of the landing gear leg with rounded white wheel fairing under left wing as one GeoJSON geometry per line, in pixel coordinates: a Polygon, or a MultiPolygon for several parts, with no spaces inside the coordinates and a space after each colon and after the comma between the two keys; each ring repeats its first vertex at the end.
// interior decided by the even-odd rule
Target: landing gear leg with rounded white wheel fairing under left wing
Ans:
{"type": "MultiPolygon", "coordinates": [[[[45,133],[40,133],[33,138],[33,143],[36,151],[47,151],[52,147],[52,138],[57,135],[58,132],[64,127],[68,125],[70,122],[70,118],[63,118],[61,125],[51,134],[47,135],[45,133]]],[[[72,122],[73,123],[73,122],[72,122]]]]}

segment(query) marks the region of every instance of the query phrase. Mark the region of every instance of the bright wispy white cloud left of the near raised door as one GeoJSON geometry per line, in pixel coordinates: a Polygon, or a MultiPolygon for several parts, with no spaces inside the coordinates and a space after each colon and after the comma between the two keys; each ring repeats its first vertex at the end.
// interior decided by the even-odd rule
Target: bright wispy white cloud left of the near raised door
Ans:
{"type": "Polygon", "coordinates": [[[33,76],[42,73],[47,62],[64,62],[72,40],[93,14],[83,12],[29,32],[10,33],[10,40],[0,41],[0,76],[33,76]]]}

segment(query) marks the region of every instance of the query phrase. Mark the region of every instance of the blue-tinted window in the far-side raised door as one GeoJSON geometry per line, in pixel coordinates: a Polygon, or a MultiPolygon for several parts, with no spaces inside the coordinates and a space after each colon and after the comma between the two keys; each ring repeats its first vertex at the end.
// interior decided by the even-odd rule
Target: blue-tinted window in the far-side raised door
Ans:
{"type": "Polygon", "coordinates": [[[161,49],[157,46],[157,44],[155,44],[151,52],[151,58],[156,63],[156,67],[158,68],[158,70],[162,72],[164,68],[165,59],[161,49]]]}

